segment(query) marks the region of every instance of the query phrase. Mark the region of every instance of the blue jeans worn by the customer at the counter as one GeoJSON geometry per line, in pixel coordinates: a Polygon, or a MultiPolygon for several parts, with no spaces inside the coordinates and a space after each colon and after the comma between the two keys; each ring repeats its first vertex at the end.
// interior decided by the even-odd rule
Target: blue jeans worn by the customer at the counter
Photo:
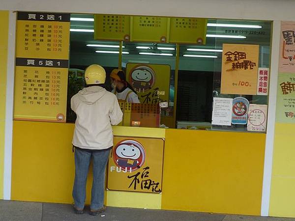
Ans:
{"type": "Polygon", "coordinates": [[[90,209],[97,210],[103,207],[105,169],[109,153],[110,150],[89,152],[75,148],[75,181],[73,198],[76,208],[84,208],[86,198],[86,181],[91,158],[93,161],[93,182],[90,209]]]}

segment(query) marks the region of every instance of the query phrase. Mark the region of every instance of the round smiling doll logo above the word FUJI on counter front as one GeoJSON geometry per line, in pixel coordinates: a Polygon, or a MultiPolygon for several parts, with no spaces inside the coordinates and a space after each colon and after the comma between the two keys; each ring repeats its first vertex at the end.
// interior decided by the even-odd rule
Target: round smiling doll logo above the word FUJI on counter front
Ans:
{"type": "Polygon", "coordinates": [[[113,160],[124,171],[139,169],[146,159],[146,152],[141,143],[133,139],[118,142],[113,150],[113,160]]]}

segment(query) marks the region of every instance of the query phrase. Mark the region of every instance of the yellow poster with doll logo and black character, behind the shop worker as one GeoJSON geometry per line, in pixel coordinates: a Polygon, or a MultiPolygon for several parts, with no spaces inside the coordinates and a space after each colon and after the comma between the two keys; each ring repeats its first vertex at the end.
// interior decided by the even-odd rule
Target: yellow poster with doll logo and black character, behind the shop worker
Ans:
{"type": "Polygon", "coordinates": [[[169,101],[169,65],[128,63],[126,73],[126,79],[136,90],[141,103],[169,101]]]}

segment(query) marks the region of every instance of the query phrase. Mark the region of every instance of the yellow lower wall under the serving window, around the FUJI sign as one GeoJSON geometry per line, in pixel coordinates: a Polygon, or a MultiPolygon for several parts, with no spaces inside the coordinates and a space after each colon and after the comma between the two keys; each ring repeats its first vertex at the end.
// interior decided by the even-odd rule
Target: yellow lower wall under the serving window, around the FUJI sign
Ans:
{"type": "MultiPolygon", "coordinates": [[[[73,202],[73,129],[74,124],[14,121],[12,200],[73,202]]],[[[114,133],[166,137],[163,192],[107,191],[108,206],[260,215],[265,134],[126,127],[114,133]],[[126,201],[134,197],[145,202],[126,201]]]]}

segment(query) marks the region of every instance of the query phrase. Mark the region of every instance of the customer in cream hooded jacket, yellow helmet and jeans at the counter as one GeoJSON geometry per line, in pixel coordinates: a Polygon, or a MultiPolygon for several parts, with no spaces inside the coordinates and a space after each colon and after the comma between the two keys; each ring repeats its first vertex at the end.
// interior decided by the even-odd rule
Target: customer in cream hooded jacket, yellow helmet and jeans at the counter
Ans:
{"type": "Polygon", "coordinates": [[[77,114],[72,140],[75,148],[74,211],[84,213],[86,181],[89,164],[93,163],[90,215],[105,210],[105,168],[113,147],[112,125],[122,121],[122,111],[116,95],[104,88],[106,72],[97,64],[85,71],[87,87],[71,98],[71,109],[77,114]]]}

